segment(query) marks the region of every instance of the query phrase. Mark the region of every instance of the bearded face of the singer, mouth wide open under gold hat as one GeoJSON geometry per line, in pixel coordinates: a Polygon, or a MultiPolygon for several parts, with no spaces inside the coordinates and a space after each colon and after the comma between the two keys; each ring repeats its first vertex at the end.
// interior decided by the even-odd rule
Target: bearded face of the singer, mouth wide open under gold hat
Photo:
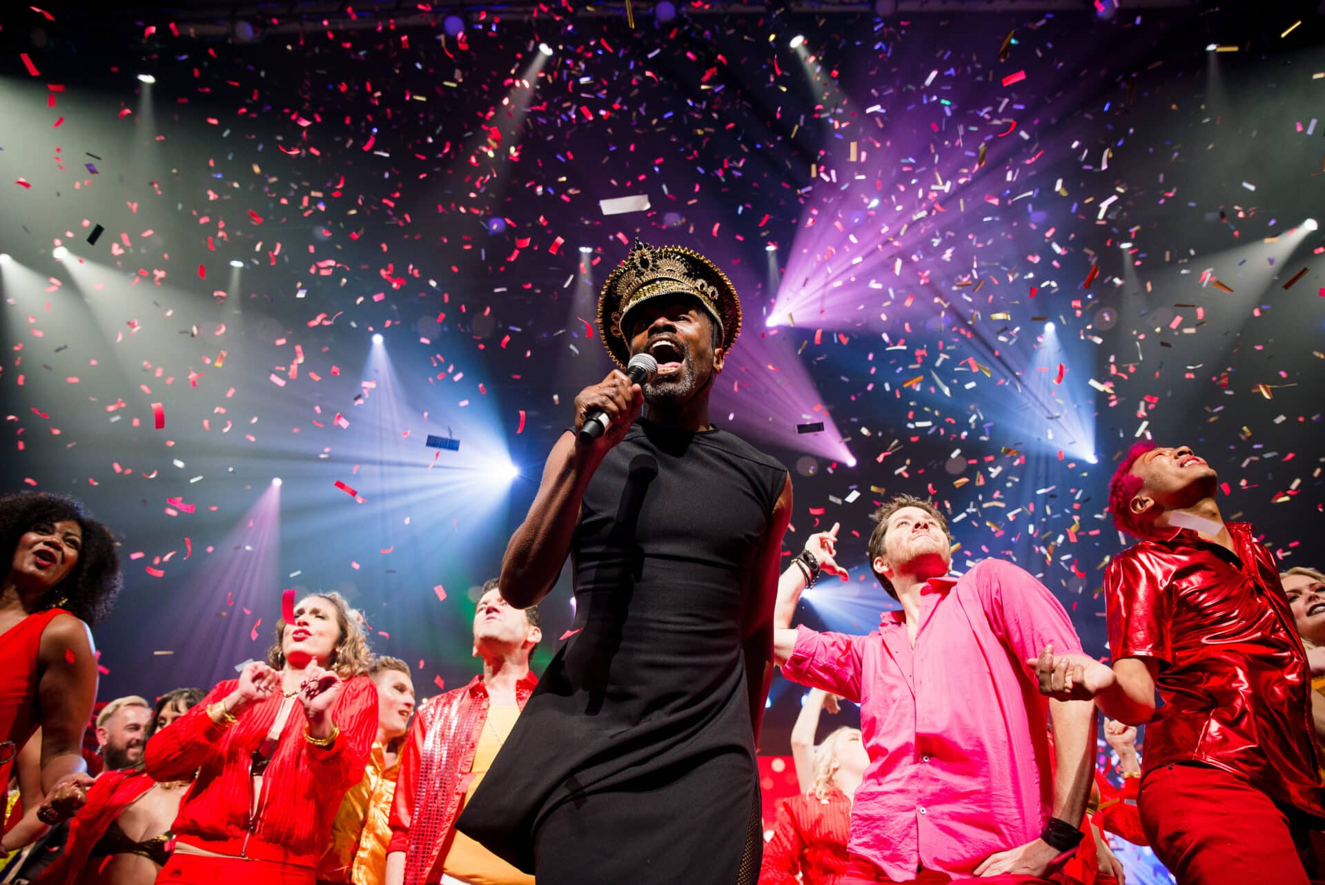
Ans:
{"type": "Polygon", "coordinates": [[[656,408],[677,408],[709,388],[726,356],[714,346],[717,326],[686,294],[660,295],[627,317],[631,355],[659,360],[657,374],[644,384],[644,400],[656,408]]]}

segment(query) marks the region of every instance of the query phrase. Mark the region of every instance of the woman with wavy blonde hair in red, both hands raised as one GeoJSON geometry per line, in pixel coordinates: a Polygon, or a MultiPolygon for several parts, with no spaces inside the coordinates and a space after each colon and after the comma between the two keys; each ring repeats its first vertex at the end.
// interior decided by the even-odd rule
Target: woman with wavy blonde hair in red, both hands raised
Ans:
{"type": "Polygon", "coordinates": [[[339,594],[306,596],[292,613],[277,623],[268,662],[249,662],[147,742],[155,780],[197,771],[158,882],[314,882],[378,734],[378,689],[339,594]]]}

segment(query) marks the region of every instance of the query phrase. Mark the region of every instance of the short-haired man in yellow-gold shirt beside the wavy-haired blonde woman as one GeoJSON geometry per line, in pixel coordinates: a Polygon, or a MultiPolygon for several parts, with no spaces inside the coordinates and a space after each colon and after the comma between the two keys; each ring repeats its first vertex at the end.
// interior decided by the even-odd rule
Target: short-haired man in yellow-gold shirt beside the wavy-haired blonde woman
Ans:
{"type": "Polygon", "coordinates": [[[409,665],[399,657],[375,658],[368,677],[378,686],[378,739],[363,779],[344,794],[331,821],[331,848],[318,864],[319,882],[382,885],[386,881],[391,802],[415,692],[409,665]]]}

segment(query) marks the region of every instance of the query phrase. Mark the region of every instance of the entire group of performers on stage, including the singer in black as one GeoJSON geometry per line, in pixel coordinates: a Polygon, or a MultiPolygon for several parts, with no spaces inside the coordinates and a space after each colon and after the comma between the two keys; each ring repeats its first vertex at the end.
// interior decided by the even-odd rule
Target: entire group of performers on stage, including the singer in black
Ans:
{"type": "Polygon", "coordinates": [[[1181,885],[1325,881],[1325,576],[1280,574],[1224,522],[1190,448],[1118,456],[1109,509],[1136,543],[1105,572],[1109,662],[1023,568],[953,575],[943,509],[910,495],[868,542],[900,608],[864,636],[794,627],[804,590],[847,578],[839,526],[784,562],[787,470],[709,421],[741,329],[730,281],[636,242],[599,329],[620,368],[576,396],[482,588],[481,672],[417,710],[408,665],[310,594],[237,678],[106,703],[90,776],[114,538],[73,499],[0,498],[0,881],[1104,885],[1124,878],[1106,833],[1181,885]],[[567,560],[574,629],[535,676],[567,560]],[[799,795],[766,833],[775,666],[812,690],[799,795]],[[840,698],[860,729],[815,746],[840,698]],[[1117,778],[1094,766],[1097,711],[1117,778]]]}

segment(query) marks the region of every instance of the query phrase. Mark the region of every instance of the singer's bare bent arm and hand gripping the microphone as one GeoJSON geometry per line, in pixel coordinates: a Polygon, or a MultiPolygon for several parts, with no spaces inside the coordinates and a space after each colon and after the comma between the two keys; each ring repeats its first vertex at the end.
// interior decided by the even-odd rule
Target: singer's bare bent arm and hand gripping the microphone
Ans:
{"type": "Polygon", "coordinates": [[[635,423],[643,403],[640,386],[620,371],[575,397],[575,431],[563,433],[547,456],[534,503],[501,560],[501,595],[515,608],[537,605],[556,584],[579,525],[584,489],[607,452],[635,423]],[[579,441],[579,429],[594,408],[603,409],[612,424],[586,445],[579,441]]]}

